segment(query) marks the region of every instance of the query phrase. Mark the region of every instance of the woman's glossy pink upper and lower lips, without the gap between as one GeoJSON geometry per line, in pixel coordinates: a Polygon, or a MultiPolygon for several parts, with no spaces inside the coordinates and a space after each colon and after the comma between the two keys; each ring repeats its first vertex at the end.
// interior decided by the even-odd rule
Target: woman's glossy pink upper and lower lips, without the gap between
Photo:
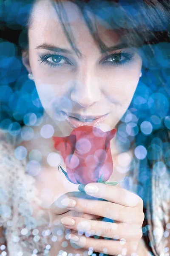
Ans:
{"type": "MultiPolygon", "coordinates": [[[[92,122],[81,122],[78,119],[76,119],[76,118],[79,118],[80,115],[71,114],[71,115],[75,115],[75,117],[79,116],[79,117],[74,118],[73,116],[68,116],[68,114],[66,114],[65,112],[63,112],[63,114],[65,116],[66,122],[68,122],[68,124],[72,128],[78,128],[78,127],[83,126],[83,125],[96,126],[96,125],[102,123],[105,120],[106,116],[108,115],[108,113],[107,113],[107,114],[105,114],[103,116],[100,116],[100,117],[97,117],[97,118],[95,116],[95,119],[92,122]]],[[[87,119],[88,118],[94,118],[94,116],[87,116],[87,119]]],[[[85,116],[82,119],[85,119],[85,116]]]]}

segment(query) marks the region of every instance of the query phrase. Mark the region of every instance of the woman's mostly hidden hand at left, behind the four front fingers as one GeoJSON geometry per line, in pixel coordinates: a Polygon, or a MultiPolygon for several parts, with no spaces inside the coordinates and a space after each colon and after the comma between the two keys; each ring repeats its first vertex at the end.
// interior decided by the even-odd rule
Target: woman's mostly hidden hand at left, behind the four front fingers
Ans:
{"type": "MultiPolygon", "coordinates": [[[[67,251],[67,253],[72,253],[73,255],[79,253],[82,256],[85,256],[87,254],[88,256],[88,251],[85,254],[84,249],[79,248],[76,246],[76,244],[70,244],[70,240],[68,239],[69,235],[69,228],[65,228],[63,224],[61,223],[61,219],[63,217],[81,217],[89,220],[94,220],[97,218],[100,218],[98,215],[92,215],[88,213],[83,213],[83,212],[77,212],[71,209],[66,208],[65,206],[62,205],[61,201],[64,198],[71,198],[71,197],[82,197],[82,198],[91,198],[91,196],[86,195],[85,193],[82,192],[69,192],[64,195],[62,195],[60,198],[58,198],[50,207],[48,210],[49,217],[50,217],[50,224],[49,227],[51,229],[51,233],[54,236],[57,236],[57,241],[53,243],[51,246],[50,250],[50,256],[56,256],[60,250],[67,251]],[[60,230],[60,233],[58,232],[60,230]],[[62,230],[62,233],[61,233],[62,230]],[[68,242],[67,247],[63,247],[62,243],[66,241],[68,242]]],[[[96,198],[94,198],[96,199],[96,198]]]]}

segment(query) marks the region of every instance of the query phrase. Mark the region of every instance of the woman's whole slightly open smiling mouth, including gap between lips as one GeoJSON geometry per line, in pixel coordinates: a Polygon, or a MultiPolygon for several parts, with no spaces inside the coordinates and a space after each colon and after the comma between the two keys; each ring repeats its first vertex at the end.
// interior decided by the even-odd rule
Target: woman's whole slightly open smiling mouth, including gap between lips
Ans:
{"type": "Polygon", "coordinates": [[[102,122],[104,122],[106,116],[108,115],[102,115],[102,116],[81,116],[79,114],[74,113],[65,113],[62,112],[65,116],[66,122],[72,127],[72,128],[78,128],[82,125],[89,125],[89,126],[95,126],[102,122]]]}

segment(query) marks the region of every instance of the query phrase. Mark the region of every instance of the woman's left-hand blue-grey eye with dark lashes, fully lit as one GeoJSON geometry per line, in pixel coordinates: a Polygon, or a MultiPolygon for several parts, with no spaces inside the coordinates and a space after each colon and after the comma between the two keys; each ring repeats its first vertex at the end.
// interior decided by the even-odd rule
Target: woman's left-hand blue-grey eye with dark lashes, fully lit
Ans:
{"type": "Polygon", "coordinates": [[[68,58],[62,55],[50,54],[50,53],[47,53],[46,55],[42,55],[39,61],[41,61],[41,63],[44,62],[50,67],[59,67],[59,66],[63,66],[64,64],[71,65],[70,61],[68,61],[68,58]]]}

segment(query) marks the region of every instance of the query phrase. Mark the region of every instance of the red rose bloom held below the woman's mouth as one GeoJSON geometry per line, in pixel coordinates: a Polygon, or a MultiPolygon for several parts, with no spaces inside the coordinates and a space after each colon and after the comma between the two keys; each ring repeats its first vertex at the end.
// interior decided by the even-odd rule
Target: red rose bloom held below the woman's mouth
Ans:
{"type": "Polygon", "coordinates": [[[110,142],[116,129],[101,129],[83,125],[75,128],[67,137],[53,137],[54,147],[65,161],[65,176],[74,184],[105,182],[113,172],[110,142]]]}

